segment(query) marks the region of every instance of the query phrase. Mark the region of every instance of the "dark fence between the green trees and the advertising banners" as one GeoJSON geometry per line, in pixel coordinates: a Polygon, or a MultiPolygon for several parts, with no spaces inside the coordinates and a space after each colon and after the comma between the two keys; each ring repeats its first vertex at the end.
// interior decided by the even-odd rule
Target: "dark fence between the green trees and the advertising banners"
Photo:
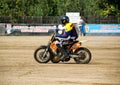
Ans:
{"type": "MultiPolygon", "coordinates": [[[[118,24],[120,17],[117,16],[83,16],[89,24],[118,24]]],[[[58,24],[60,16],[23,16],[23,17],[0,17],[0,23],[24,23],[24,24],[58,24]]]]}

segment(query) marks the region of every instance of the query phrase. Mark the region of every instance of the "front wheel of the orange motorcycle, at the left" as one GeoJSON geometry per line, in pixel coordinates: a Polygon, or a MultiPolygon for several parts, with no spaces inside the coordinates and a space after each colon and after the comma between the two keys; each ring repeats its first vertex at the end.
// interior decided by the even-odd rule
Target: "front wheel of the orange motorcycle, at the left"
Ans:
{"type": "Polygon", "coordinates": [[[46,51],[47,47],[39,47],[34,52],[34,58],[39,63],[47,63],[50,61],[50,53],[46,51]]]}

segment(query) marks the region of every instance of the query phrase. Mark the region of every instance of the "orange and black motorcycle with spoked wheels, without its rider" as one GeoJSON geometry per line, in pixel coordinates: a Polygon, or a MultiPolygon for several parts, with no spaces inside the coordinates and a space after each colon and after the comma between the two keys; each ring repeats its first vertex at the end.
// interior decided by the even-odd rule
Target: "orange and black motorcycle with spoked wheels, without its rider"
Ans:
{"type": "Polygon", "coordinates": [[[52,63],[59,63],[60,61],[68,62],[74,59],[77,64],[88,64],[91,61],[91,52],[89,49],[82,47],[82,42],[78,40],[63,45],[69,56],[61,60],[60,57],[63,54],[58,50],[55,44],[55,41],[58,40],[55,35],[56,33],[51,36],[47,45],[41,45],[35,50],[34,59],[38,63],[48,63],[49,61],[52,63]]]}

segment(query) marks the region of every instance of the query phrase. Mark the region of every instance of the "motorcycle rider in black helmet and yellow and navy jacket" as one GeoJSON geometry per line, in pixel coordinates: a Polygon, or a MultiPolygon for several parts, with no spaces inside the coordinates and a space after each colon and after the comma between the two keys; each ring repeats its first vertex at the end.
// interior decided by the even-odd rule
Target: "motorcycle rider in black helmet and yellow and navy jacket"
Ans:
{"type": "Polygon", "coordinates": [[[65,32],[63,34],[56,35],[56,37],[59,37],[61,39],[60,41],[56,41],[56,45],[58,47],[58,50],[60,50],[61,53],[63,54],[60,57],[60,59],[63,60],[65,57],[68,56],[68,54],[66,50],[64,49],[64,47],[62,46],[63,45],[62,40],[65,42],[67,41],[72,42],[78,38],[78,34],[77,34],[76,28],[74,27],[73,23],[69,22],[68,16],[62,16],[60,20],[64,26],[65,32]]]}

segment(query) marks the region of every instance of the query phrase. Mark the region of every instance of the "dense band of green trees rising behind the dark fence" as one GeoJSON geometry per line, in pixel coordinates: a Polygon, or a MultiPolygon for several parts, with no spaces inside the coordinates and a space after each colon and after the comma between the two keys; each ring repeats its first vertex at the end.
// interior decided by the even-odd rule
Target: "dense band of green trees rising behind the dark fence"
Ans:
{"type": "Polygon", "coordinates": [[[120,16],[119,0],[0,0],[0,16],[62,16],[80,12],[82,16],[120,16]]]}

